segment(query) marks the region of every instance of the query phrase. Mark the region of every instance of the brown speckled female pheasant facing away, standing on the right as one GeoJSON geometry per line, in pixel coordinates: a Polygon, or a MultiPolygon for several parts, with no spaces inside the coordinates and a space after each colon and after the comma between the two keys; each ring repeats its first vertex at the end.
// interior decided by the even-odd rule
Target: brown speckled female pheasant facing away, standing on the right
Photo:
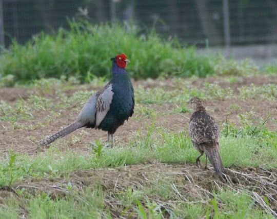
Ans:
{"type": "Polygon", "coordinates": [[[196,164],[199,165],[199,159],[205,152],[215,172],[222,175],[223,165],[219,152],[219,128],[214,118],[206,112],[200,98],[193,97],[188,103],[192,104],[194,108],[189,122],[189,136],[193,146],[201,153],[196,158],[196,164]]]}

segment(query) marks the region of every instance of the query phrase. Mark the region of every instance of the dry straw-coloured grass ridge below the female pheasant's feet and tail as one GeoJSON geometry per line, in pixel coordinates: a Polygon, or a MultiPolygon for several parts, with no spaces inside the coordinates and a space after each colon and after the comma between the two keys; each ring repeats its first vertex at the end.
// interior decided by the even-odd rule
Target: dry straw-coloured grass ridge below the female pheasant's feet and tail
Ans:
{"type": "MultiPolygon", "coordinates": [[[[145,192],[141,201],[146,205],[146,200],[151,200],[163,209],[164,218],[168,218],[170,209],[177,203],[202,203],[210,206],[210,200],[214,192],[231,190],[235,193],[246,192],[251,196],[256,206],[259,206],[266,213],[277,216],[277,169],[259,168],[227,168],[225,171],[226,181],[217,177],[212,168],[202,170],[195,165],[180,164],[148,164],[131,165],[114,169],[89,169],[78,170],[67,177],[55,180],[37,180],[28,178],[20,184],[13,185],[4,190],[14,192],[18,189],[25,189],[29,194],[45,193],[51,194],[52,198],[64,197],[72,193],[67,185],[72,185],[78,191],[85,187],[101,186],[105,191],[105,208],[111,209],[112,217],[120,216],[125,208],[124,203],[118,199],[116,194],[120,191],[134,190],[157,190],[156,192],[145,192]],[[161,185],[160,189],[165,190],[165,195],[159,194],[156,185],[161,185]],[[166,195],[169,188],[170,195],[166,195]],[[267,198],[265,198],[267,197],[267,198]],[[268,200],[268,202],[267,202],[268,200]]],[[[72,188],[70,187],[70,188],[72,188]]],[[[161,191],[160,191],[161,192],[161,191]]],[[[82,198],[77,195],[76,198],[82,198]]],[[[224,202],[217,198],[219,208],[224,206],[224,202]]],[[[22,209],[24,211],[24,208],[22,209]]],[[[130,211],[125,213],[127,217],[130,211]]],[[[212,216],[212,215],[211,215],[212,216]]]]}

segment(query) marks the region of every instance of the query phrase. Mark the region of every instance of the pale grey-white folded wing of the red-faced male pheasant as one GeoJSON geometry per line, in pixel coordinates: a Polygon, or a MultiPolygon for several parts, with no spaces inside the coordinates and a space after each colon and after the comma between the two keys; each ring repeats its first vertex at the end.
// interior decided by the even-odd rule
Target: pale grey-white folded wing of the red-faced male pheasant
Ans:
{"type": "Polygon", "coordinates": [[[110,105],[112,102],[112,85],[107,86],[107,88],[99,95],[96,102],[96,120],[95,127],[97,128],[107,115],[110,105]]]}

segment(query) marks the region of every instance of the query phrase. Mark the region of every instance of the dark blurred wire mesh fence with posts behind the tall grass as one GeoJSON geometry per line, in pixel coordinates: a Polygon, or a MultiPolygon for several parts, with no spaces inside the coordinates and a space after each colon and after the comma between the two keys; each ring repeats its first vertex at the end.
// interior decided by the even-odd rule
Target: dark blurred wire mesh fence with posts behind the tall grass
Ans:
{"type": "Polygon", "coordinates": [[[0,43],[67,28],[81,12],[92,23],[132,21],[202,47],[277,41],[276,0],[0,0],[0,43]]]}

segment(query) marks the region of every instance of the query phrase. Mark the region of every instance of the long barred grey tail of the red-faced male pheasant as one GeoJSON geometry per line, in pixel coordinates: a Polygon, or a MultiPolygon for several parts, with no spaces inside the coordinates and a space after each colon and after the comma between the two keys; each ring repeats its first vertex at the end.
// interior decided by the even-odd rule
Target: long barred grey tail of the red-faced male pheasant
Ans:
{"type": "Polygon", "coordinates": [[[61,129],[60,131],[56,132],[55,134],[47,137],[45,140],[43,140],[40,144],[41,146],[46,146],[52,142],[54,142],[59,137],[64,137],[65,135],[75,131],[78,128],[83,127],[83,124],[79,122],[74,122],[68,125],[67,127],[61,129]]]}

